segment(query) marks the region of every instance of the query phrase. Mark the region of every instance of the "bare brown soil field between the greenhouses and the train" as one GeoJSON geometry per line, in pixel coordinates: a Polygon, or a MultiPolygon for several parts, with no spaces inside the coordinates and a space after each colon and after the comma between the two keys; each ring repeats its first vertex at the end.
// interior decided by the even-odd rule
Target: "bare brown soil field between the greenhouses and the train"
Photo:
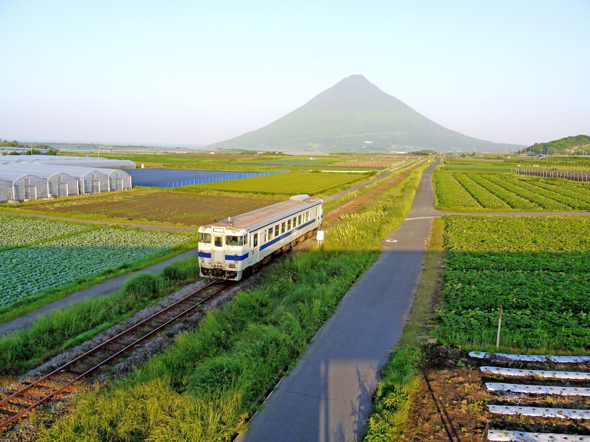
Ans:
{"type": "Polygon", "coordinates": [[[153,221],[200,226],[214,219],[239,215],[276,202],[271,199],[140,190],[60,198],[19,207],[57,216],[105,217],[139,223],[153,221]]]}

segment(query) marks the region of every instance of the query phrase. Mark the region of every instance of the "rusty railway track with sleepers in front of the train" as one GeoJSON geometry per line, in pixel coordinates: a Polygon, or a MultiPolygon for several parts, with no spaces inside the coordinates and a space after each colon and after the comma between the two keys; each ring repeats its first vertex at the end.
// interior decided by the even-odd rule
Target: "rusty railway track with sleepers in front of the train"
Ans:
{"type": "Polygon", "coordinates": [[[87,378],[145,339],[162,332],[173,322],[195,311],[205,302],[216,298],[229,286],[228,282],[210,282],[196,292],[162,308],[149,318],[137,322],[49,374],[30,383],[23,382],[23,387],[20,390],[15,390],[0,399],[0,430],[14,423],[34,408],[60,397],[77,382],[87,378]]]}

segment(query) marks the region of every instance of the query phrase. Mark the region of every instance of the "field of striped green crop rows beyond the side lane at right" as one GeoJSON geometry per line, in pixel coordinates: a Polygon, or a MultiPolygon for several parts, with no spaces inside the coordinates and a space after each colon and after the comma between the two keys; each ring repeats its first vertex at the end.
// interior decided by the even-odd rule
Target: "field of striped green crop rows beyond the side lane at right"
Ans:
{"type": "Polygon", "coordinates": [[[433,174],[437,209],[589,210],[590,186],[500,173],[433,174]]]}

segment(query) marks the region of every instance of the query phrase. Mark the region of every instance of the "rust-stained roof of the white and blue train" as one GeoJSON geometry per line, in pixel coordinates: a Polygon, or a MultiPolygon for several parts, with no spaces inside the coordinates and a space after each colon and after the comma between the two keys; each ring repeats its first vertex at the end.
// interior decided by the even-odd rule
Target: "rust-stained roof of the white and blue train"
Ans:
{"type": "Polygon", "coordinates": [[[318,202],[321,203],[322,200],[313,196],[296,195],[291,197],[289,201],[282,201],[271,204],[270,206],[261,207],[251,212],[242,213],[242,215],[232,216],[229,221],[226,219],[221,222],[208,224],[207,226],[253,230],[276,222],[293,213],[297,213],[302,209],[306,209],[306,207],[316,206],[318,202]]]}

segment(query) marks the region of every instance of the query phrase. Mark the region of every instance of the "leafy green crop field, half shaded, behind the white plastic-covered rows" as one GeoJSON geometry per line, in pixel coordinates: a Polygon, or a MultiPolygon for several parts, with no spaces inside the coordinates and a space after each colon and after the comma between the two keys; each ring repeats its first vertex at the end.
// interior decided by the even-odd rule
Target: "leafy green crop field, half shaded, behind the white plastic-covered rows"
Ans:
{"type": "MultiPolygon", "coordinates": [[[[447,216],[439,335],[457,345],[590,349],[590,218],[447,216]]],[[[479,347],[481,349],[481,347],[479,347]]]]}

